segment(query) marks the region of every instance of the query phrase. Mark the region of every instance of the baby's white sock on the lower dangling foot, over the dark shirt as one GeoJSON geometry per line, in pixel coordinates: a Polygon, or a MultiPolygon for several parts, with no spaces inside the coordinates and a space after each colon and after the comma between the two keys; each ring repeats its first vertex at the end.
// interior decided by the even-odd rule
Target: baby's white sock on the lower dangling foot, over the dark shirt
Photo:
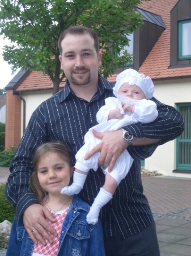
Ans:
{"type": "Polygon", "coordinates": [[[90,207],[90,212],[87,214],[86,220],[88,224],[95,225],[97,223],[101,207],[107,204],[112,198],[113,196],[111,193],[105,191],[103,188],[100,188],[94,203],[90,207]]]}

